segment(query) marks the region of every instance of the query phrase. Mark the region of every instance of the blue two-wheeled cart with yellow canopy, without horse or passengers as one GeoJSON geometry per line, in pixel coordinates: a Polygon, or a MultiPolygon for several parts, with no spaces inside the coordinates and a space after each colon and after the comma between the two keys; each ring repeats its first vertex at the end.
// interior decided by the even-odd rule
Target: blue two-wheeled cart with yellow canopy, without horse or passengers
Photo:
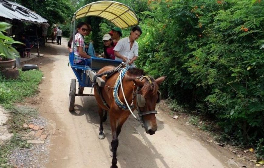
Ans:
{"type": "MultiPolygon", "coordinates": [[[[83,6],[77,12],[75,12],[72,24],[71,24],[71,34],[75,34],[76,31],[76,19],[80,19],[88,16],[97,16],[104,18],[112,22],[119,28],[128,28],[133,25],[138,24],[138,18],[135,12],[128,7],[127,5],[121,4],[114,1],[98,1],[93,2],[88,5],[83,6]]],[[[74,36],[73,36],[74,37],[74,36]]],[[[74,41],[74,39],[73,39],[74,41]]],[[[72,44],[74,48],[74,43],[72,44]]],[[[117,67],[120,65],[121,61],[110,60],[105,58],[90,58],[89,65],[77,65],[74,64],[74,52],[69,54],[69,63],[70,66],[76,75],[77,81],[80,87],[93,87],[93,84],[98,85],[99,87],[104,87],[105,81],[96,76],[96,71],[107,66],[112,65],[117,67]],[[80,75],[77,71],[82,71],[80,75]]],[[[78,91],[76,94],[76,79],[71,79],[70,91],[69,91],[69,111],[74,110],[74,103],[76,96],[94,96],[93,94],[83,94],[78,91]]]]}

